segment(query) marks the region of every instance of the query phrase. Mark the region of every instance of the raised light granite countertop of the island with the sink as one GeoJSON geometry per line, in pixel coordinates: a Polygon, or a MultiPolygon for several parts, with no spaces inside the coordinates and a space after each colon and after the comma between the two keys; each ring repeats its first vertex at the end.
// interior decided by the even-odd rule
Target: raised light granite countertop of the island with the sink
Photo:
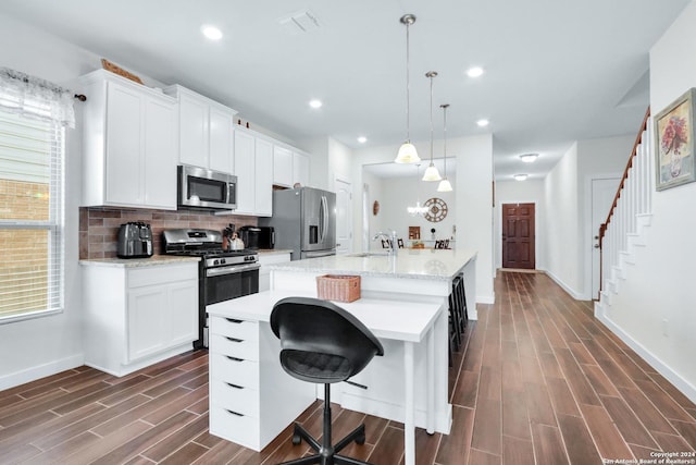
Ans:
{"type": "Polygon", "coordinates": [[[360,274],[363,277],[450,280],[461,272],[476,252],[467,249],[401,248],[393,257],[383,252],[333,255],[269,265],[270,270],[360,274]],[[366,256],[365,256],[366,255],[366,256]]]}

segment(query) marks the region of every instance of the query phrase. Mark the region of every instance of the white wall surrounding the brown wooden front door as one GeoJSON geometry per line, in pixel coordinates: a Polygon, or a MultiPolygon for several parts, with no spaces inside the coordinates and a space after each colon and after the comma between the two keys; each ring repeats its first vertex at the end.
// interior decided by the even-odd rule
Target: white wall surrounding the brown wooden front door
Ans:
{"type": "Polygon", "coordinates": [[[496,181],[495,244],[496,268],[502,267],[502,204],[534,204],[536,269],[546,270],[546,205],[544,180],[496,181]]]}

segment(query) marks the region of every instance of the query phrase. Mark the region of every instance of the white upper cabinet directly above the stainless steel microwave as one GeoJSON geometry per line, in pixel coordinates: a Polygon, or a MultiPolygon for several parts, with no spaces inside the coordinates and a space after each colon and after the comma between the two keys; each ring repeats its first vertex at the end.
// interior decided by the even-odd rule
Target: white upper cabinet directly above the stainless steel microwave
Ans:
{"type": "Polygon", "coordinates": [[[179,103],[179,162],[232,174],[232,126],[237,112],[179,85],[164,93],[179,103]]]}

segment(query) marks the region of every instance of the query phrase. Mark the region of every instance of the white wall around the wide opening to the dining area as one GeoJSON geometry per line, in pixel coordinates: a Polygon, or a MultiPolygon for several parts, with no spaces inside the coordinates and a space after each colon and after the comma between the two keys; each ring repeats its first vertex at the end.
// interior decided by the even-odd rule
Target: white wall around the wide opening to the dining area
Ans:
{"type": "MultiPolygon", "coordinates": [[[[426,154],[430,140],[413,142],[419,154],[426,154]]],[[[370,147],[352,152],[353,185],[363,184],[363,164],[394,161],[398,146],[370,147]]],[[[457,158],[453,185],[457,248],[478,253],[476,259],[476,302],[493,303],[493,137],[490,134],[447,140],[448,154],[457,158]]],[[[358,191],[355,191],[356,193],[358,191]]],[[[372,194],[371,194],[372,195],[372,194]]],[[[356,231],[362,231],[362,203],[353,201],[356,231]],[[358,223],[359,222],[359,223],[358,223]]],[[[451,212],[450,212],[451,215],[451,212]]],[[[353,250],[369,249],[362,234],[353,235],[353,250]]]]}

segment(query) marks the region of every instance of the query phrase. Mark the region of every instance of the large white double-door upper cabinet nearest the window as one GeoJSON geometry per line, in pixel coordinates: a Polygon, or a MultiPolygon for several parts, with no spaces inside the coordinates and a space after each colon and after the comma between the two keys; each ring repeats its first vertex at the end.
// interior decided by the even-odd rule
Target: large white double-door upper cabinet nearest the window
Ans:
{"type": "Polygon", "coordinates": [[[104,70],[82,76],[83,205],[176,209],[176,101],[104,70]]]}

